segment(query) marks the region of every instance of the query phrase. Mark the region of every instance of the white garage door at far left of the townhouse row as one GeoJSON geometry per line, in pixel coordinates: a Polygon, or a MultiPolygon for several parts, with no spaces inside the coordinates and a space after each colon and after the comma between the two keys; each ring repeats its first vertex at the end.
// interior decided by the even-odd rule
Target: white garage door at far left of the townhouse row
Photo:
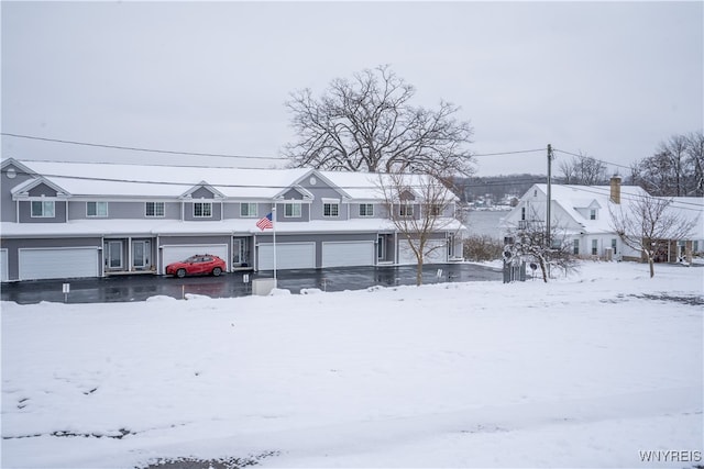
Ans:
{"type": "Polygon", "coordinates": [[[98,277],[97,247],[23,248],[20,280],[98,277]]]}

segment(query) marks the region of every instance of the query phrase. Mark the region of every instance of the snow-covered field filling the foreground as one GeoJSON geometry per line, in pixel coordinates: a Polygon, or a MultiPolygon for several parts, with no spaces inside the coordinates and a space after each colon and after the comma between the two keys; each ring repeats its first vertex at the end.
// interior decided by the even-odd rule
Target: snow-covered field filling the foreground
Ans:
{"type": "Polygon", "coordinates": [[[703,290],[704,267],[588,263],[548,284],[6,302],[2,467],[695,467],[703,290]]]}

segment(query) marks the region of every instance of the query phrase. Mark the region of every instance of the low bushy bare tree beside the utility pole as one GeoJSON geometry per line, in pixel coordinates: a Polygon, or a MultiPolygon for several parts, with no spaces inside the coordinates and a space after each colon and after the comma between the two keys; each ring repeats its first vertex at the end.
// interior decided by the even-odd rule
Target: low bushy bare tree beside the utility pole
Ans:
{"type": "Polygon", "coordinates": [[[550,228],[550,245],[546,239],[546,225],[542,221],[529,221],[508,231],[512,239],[505,246],[504,255],[510,259],[535,260],[540,267],[542,281],[548,282],[549,268],[558,267],[564,272],[576,269],[576,257],[572,254],[569,237],[559,225],[550,228]]]}

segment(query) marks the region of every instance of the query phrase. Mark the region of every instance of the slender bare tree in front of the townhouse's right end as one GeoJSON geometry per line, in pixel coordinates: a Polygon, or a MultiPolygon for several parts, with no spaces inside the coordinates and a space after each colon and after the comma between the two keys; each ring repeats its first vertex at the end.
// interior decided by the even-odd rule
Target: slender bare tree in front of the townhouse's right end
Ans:
{"type": "Polygon", "coordinates": [[[420,286],[426,259],[438,249],[448,249],[448,243],[462,228],[460,211],[454,205],[457,198],[431,175],[380,175],[378,190],[388,217],[416,257],[416,284],[420,286]],[[452,236],[446,237],[448,233],[452,236]]]}

